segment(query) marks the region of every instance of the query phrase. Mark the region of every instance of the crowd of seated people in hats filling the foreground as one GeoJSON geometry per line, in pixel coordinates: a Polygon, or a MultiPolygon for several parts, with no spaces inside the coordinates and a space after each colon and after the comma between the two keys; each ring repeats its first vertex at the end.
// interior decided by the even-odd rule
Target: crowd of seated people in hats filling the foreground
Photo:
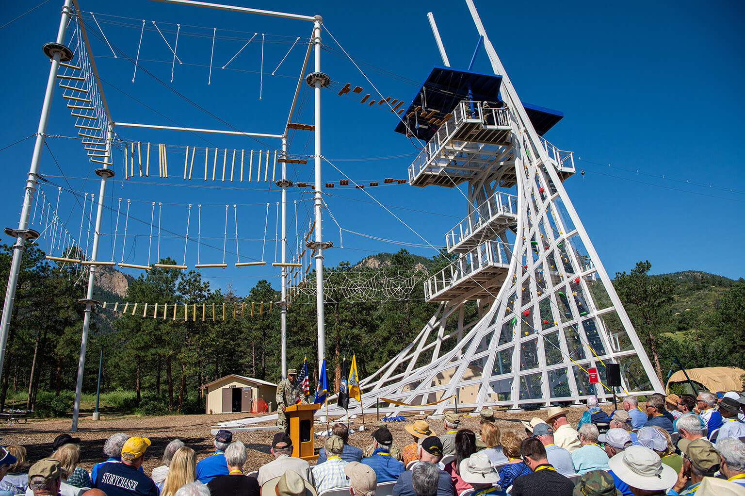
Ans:
{"type": "Polygon", "coordinates": [[[273,460],[253,476],[244,473],[246,446],[229,430],[218,430],[215,452],[198,462],[194,449],[174,439],[149,476],[142,469],[147,438],[113,434],[104,444],[108,458],[89,474],[79,466],[80,439],[61,434],[34,464],[23,446],[0,447],[0,496],[745,494],[745,395],[651,395],[643,403],[627,396],[609,415],[597,398],[587,404],[577,428],[568,409],[554,406],[545,418],[524,421],[524,433],[500,429],[488,410],[480,436],[448,412],[439,437],[425,420],[406,425],[413,442],[401,451],[386,424],[376,424],[364,451],[349,444],[346,425],[335,424],[315,465],[291,456],[292,439],[277,433],[273,460]]]}

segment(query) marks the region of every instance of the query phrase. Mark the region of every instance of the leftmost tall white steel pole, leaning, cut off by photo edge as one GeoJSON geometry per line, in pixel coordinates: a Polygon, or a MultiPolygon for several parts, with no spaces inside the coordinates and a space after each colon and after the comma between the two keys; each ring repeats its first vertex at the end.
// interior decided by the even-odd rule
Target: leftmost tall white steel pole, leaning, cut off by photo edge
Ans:
{"type": "MultiPolygon", "coordinates": [[[[65,0],[62,7],[62,18],[60,19],[60,28],[57,30],[57,44],[62,45],[65,41],[67,23],[70,19],[72,0],[65,0]]],[[[54,85],[57,84],[57,69],[60,68],[60,58],[62,51],[54,51],[51,58],[51,67],[49,67],[49,77],[44,92],[44,104],[42,104],[42,113],[39,116],[39,128],[37,128],[37,141],[34,144],[34,154],[31,157],[31,167],[28,169],[28,178],[26,178],[25,194],[23,197],[23,208],[21,218],[18,222],[19,232],[28,228],[28,216],[31,213],[31,204],[34,203],[34,191],[37,189],[37,172],[39,171],[39,160],[41,160],[42,147],[44,145],[46,126],[51,110],[51,98],[54,95],[54,85]]],[[[7,335],[10,330],[10,317],[13,315],[13,304],[16,298],[16,286],[18,285],[18,274],[21,270],[21,260],[23,258],[23,248],[26,236],[20,235],[16,238],[16,244],[13,245],[13,261],[10,263],[10,274],[7,277],[7,289],[5,289],[5,301],[3,304],[2,318],[0,319],[0,379],[5,362],[5,347],[7,346],[7,335]]]]}

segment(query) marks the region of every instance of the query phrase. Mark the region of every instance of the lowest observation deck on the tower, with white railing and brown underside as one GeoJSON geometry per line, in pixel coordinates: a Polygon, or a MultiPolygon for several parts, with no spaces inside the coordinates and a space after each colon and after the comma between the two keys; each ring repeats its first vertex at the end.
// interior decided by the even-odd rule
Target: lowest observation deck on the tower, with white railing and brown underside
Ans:
{"type": "Polygon", "coordinates": [[[509,245],[499,241],[484,242],[426,280],[425,300],[493,298],[507,277],[511,257],[509,245]]]}

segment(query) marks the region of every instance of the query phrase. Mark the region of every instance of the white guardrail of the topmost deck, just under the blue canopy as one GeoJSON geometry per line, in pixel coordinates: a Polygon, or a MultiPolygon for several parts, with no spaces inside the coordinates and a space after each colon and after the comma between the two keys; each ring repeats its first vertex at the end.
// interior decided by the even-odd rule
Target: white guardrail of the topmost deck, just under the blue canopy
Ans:
{"type": "Polygon", "coordinates": [[[509,127],[510,115],[505,107],[492,108],[483,101],[460,101],[454,108],[451,118],[440,124],[440,129],[430,138],[409,166],[409,183],[428,167],[432,157],[440,154],[445,143],[466,122],[481,124],[484,128],[509,127]]]}

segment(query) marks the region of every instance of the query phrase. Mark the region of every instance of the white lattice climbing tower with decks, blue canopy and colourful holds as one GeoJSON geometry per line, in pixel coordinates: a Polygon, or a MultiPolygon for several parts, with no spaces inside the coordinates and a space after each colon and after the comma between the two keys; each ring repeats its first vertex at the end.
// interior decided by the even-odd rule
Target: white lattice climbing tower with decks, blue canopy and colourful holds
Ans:
{"type": "Polygon", "coordinates": [[[469,7],[494,75],[435,67],[396,128],[426,142],[410,184],[467,183],[467,216],[446,233],[453,263],[425,281],[437,314],[362,381],[365,409],[378,398],[399,403],[387,413],[612,398],[611,363],[620,394],[661,391],[562,186],[572,154],[542,137],[562,114],[520,100],[469,7]]]}

